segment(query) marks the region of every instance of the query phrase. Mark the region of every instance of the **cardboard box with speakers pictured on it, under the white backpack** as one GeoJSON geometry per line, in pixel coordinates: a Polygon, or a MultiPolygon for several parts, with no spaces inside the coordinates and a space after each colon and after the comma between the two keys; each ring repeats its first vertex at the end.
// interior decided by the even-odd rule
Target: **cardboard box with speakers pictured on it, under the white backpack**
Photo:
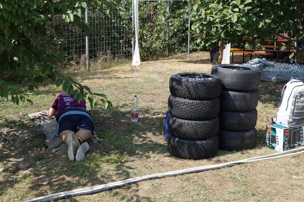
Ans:
{"type": "Polygon", "coordinates": [[[275,151],[285,151],[303,145],[303,127],[289,128],[267,124],[266,147],[275,151]]]}

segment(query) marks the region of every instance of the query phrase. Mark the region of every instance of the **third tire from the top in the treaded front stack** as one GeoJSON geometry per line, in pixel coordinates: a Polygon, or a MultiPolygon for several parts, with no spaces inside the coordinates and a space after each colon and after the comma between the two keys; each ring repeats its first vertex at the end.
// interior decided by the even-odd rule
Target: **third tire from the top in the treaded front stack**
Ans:
{"type": "Polygon", "coordinates": [[[183,120],[169,115],[169,133],[188,140],[204,140],[214,137],[219,132],[219,118],[208,120],[183,120]]]}

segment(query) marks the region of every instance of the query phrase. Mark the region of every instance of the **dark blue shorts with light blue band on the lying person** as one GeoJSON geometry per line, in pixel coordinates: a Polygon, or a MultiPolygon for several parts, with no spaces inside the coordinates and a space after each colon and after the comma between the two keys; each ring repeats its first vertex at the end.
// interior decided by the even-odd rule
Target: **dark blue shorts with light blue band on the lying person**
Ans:
{"type": "Polygon", "coordinates": [[[91,115],[83,108],[66,108],[60,114],[56,115],[58,122],[58,131],[55,134],[58,136],[62,131],[73,131],[76,133],[79,130],[88,130],[93,134],[94,125],[91,115]]]}

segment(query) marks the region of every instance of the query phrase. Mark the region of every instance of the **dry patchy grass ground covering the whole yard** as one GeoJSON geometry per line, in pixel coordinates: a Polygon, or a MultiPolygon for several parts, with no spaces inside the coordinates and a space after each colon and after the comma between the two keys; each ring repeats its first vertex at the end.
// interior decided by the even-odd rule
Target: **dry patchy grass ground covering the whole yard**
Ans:
{"type": "MultiPolygon", "coordinates": [[[[0,147],[0,168],[5,168],[0,173],[0,201],[21,201],[132,177],[275,153],[265,147],[264,133],[266,124],[276,114],[284,84],[271,82],[261,82],[259,88],[257,147],[244,151],[219,150],[216,156],[198,161],[179,159],[168,153],[167,143],[158,132],[159,120],[148,116],[166,113],[169,78],[173,72],[210,73],[213,64],[197,62],[208,61],[208,58],[208,53],[193,53],[188,62],[186,55],[181,54],[143,62],[140,69],[121,64],[98,71],[71,73],[76,81],[88,85],[92,91],[106,94],[114,106],[112,113],[102,108],[90,111],[101,143],[90,145],[85,159],[79,162],[69,161],[67,153],[50,151],[43,132],[36,131],[36,124],[24,116],[47,110],[60,94],[60,88],[42,84],[38,96],[32,97],[33,106],[1,101],[0,137],[8,141],[0,147]],[[96,72],[102,73],[102,78],[96,79],[96,72]],[[134,94],[139,98],[137,123],[130,121],[134,94]],[[43,147],[45,150],[40,153],[37,149],[43,147]]],[[[304,197],[302,173],[304,155],[300,154],[148,180],[95,195],[73,197],[71,201],[274,201],[282,198],[292,201],[304,197]],[[280,198],[273,190],[281,193],[280,198]]]]}

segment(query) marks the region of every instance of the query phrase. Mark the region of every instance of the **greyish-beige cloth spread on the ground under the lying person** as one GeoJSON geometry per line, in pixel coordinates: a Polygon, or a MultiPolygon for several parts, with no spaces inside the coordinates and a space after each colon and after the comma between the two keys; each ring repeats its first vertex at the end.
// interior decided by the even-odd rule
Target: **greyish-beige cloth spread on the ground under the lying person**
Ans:
{"type": "MultiPolygon", "coordinates": [[[[38,131],[43,131],[45,134],[45,142],[47,147],[51,150],[56,149],[58,152],[67,151],[67,145],[61,142],[59,136],[55,136],[58,129],[58,123],[55,118],[47,118],[47,110],[29,114],[29,118],[32,119],[38,125],[38,131]]],[[[93,132],[93,138],[87,141],[88,144],[99,144],[100,139],[97,137],[95,131],[93,132]]]]}

